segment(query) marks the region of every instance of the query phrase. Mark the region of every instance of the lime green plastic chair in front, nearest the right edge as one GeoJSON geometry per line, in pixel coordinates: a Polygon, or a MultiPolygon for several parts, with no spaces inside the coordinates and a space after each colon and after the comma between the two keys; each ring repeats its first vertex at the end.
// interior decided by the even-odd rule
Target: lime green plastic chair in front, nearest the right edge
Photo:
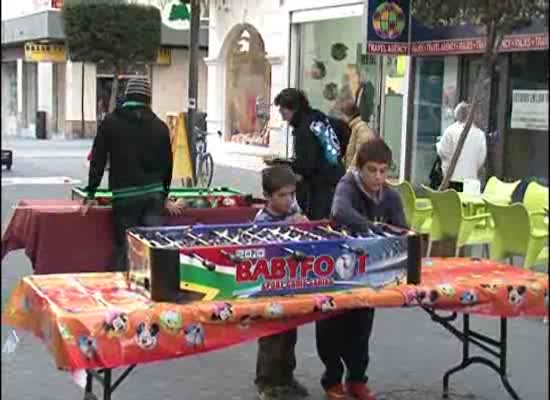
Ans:
{"type": "Polygon", "coordinates": [[[548,265],[548,228],[536,228],[526,207],[521,203],[510,206],[486,202],[495,222],[495,235],[490,245],[490,257],[494,261],[510,260],[522,256],[523,267],[548,265]]]}

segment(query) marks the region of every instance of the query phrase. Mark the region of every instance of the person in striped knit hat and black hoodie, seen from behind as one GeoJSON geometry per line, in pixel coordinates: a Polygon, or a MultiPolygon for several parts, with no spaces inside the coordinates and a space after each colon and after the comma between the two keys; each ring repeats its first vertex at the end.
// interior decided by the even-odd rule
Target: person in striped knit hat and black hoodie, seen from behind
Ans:
{"type": "Polygon", "coordinates": [[[113,192],[113,270],[126,270],[126,230],[162,225],[163,212],[177,214],[167,200],[172,181],[170,132],[151,110],[151,87],[145,79],[131,79],[125,102],[105,117],[94,139],[83,214],[95,205],[107,160],[113,192]]]}

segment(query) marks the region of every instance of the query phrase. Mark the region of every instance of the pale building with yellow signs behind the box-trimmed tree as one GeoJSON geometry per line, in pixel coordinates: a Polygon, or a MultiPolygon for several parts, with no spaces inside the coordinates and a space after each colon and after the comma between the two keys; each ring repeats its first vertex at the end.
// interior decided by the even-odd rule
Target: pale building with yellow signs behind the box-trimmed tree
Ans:
{"type": "MultiPolygon", "coordinates": [[[[108,107],[113,71],[106,65],[71,62],[64,46],[60,2],[21,3],[27,7],[2,21],[2,136],[34,136],[37,111],[46,112],[48,136],[95,135],[108,107]]],[[[202,61],[208,49],[207,25],[207,20],[202,21],[200,31],[199,111],[206,109],[207,99],[207,69],[202,61]]],[[[168,112],[187,110],[189,31],[163,23],[161,43],[154,64],[134,65],[118,78],[121,93],[130,77],[148,77],[153,110],[164,118],[168,112]]]]}

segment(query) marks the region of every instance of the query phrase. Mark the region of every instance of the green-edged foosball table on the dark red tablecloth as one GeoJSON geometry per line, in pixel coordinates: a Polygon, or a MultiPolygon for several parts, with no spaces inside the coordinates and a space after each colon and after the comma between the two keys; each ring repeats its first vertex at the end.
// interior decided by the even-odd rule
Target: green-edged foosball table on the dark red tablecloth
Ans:
{"type": "MultiPolygon", "coordinates": [[[[72,200],[85,199],[85,188],[75,187],[71,191],[72,200]]],[[[217,188],[172,188],[168,197],[174,200],[183,200],[189,208],[220,208],[220,207],[250,207],[261,202],[252,195],[228,187],[217,188]]],[[[113,200],[113,192],[100,188],[95,193],[99,205],[109,206],[113,200]]]]}

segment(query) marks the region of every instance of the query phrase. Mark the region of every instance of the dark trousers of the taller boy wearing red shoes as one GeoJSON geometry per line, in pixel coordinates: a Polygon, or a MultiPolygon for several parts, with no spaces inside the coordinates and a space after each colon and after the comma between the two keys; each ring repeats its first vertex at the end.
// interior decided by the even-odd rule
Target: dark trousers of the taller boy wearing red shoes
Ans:
{"type": "Polygon", "coordinates": [[[346,382],[367,381],[373,321],[374,309],[363,308],[316,322],[317,352],[325,365],[321,385],[325,389],[342,383],[344,366],[346,382]]]}

